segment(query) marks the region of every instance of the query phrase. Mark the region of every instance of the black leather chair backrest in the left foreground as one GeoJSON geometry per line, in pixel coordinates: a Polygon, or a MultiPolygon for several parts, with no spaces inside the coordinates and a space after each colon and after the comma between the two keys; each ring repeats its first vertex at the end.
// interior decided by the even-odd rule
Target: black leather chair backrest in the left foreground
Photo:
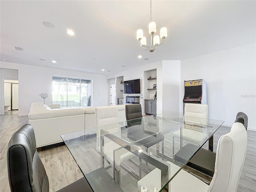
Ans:
{"type": "Polygon", "coordinates": [[[49,181],[36,150],[32,125],[25,124],[11,137],[7,166],[12,192],[49,192],[49,181]]]}

